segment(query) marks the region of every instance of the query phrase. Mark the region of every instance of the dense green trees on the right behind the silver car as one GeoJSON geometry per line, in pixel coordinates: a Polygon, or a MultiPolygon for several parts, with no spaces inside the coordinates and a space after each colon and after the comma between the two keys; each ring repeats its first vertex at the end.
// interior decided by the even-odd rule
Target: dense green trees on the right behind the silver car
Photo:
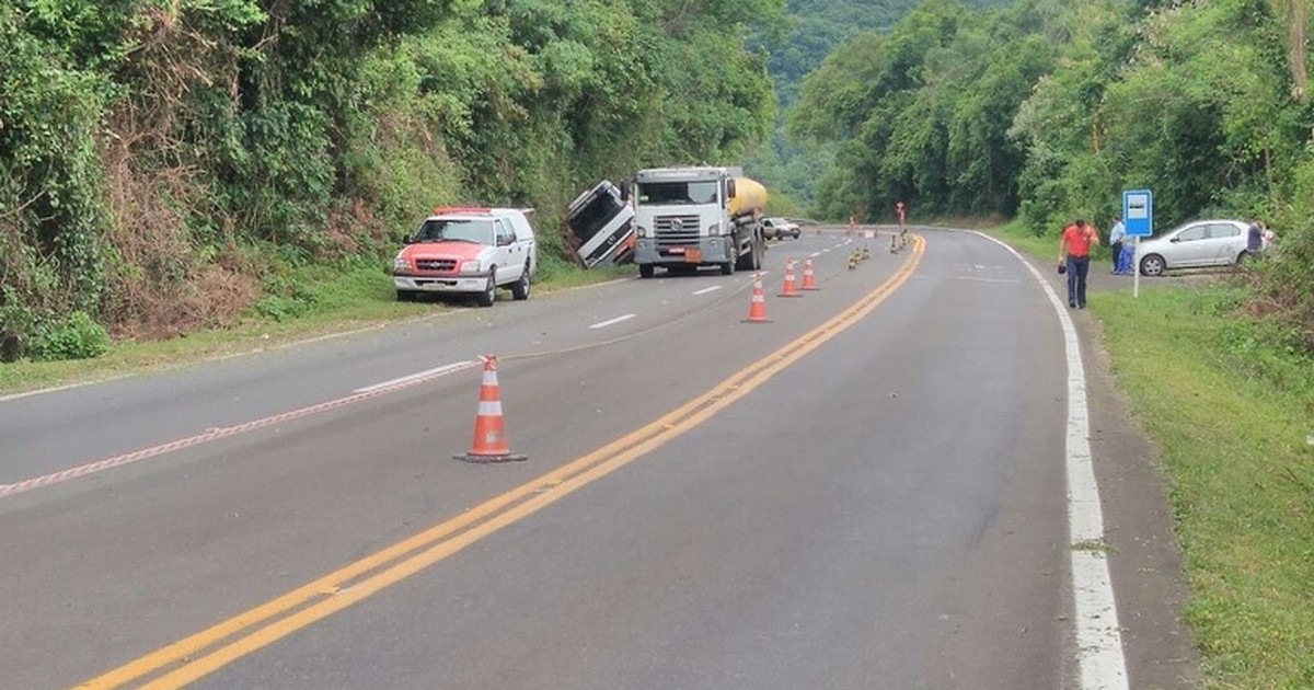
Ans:
{"type": "Polygon", "coordinates": [[[791,131],[836,146],[816,213],[1072,218],[1123,189],[1155,225],[1263,218],[1279,250],[1250,305],[1314,348],[1314,108],[1306,0],[926,0],[809,74],[791,131]]]}

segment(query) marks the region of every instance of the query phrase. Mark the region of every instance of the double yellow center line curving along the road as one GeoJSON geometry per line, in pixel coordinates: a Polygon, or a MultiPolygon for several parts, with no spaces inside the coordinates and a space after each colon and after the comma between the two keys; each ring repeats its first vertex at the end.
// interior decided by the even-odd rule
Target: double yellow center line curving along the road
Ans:
{"type": "Polygon", "coordinates": [[[480,539],[565,498],[694,428],[834,338],[901,287],[917,268],[925,241],[875,290],[830,321],[741,369],[660,419],[403,541],[328,573],[276,599],[166,645],[79,687],[108,689],[152,677],[142,687],[180,687],[394,585],[480,539]]]}

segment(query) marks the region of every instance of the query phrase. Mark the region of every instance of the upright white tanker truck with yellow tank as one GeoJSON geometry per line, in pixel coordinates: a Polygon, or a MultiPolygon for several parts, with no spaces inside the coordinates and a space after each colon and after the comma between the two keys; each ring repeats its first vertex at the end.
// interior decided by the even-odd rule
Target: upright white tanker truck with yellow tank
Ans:
{"type": "Polygon", "coordinates": [[[766,252],[766,189],[740,168],[650,168],[635,175],[635,263],[641,277],[656,267],[690,272],[716,265],[758,269],[766,252]]]}

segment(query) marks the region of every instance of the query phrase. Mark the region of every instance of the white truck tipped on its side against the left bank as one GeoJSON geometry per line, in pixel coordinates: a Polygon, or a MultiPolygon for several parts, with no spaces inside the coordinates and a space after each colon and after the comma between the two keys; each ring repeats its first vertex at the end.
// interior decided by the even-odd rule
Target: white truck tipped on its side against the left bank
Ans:
{"type": "Polygon", "coordinates": [[[586,268],[622,264],[635,254],[635,209],[622,189],[602,180],[566,209],[566,227],[586,268]]]}

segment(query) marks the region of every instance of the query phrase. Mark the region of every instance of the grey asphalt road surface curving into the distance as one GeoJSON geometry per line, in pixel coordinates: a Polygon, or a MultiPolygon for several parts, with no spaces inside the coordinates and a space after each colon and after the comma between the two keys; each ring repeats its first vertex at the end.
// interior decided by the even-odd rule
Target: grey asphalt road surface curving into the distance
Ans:
{"type": "Polygon", "coordinates": [[[1058,318],[920,238],[0,401],[0,686],[1080,687],[1058,318]],[[481,354],[523,463],[452,459],[481,354]]]}

